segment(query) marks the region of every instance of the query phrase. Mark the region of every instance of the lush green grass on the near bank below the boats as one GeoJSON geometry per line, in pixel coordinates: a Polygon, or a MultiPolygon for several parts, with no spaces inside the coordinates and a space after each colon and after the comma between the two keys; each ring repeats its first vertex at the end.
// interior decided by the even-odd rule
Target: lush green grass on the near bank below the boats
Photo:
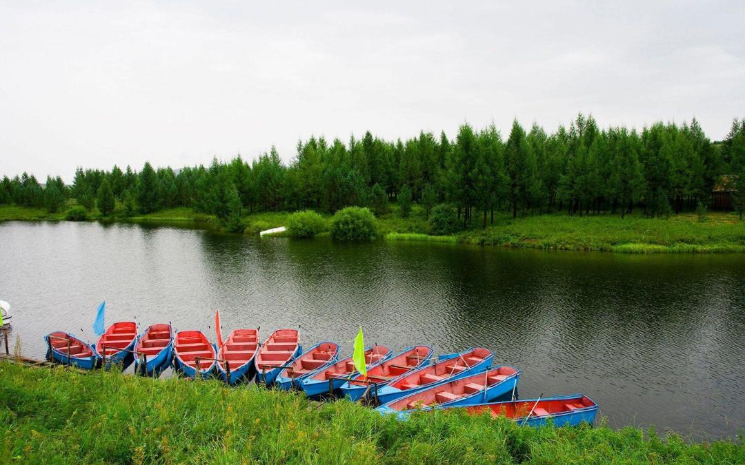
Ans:
{"type": "Polygon", "coordinates": [[[4,463],[742,463],[741,441],[639,429],[520,428],[507,420],[317,404],[254,385],[142,379],[0,362],[4,463]]]}

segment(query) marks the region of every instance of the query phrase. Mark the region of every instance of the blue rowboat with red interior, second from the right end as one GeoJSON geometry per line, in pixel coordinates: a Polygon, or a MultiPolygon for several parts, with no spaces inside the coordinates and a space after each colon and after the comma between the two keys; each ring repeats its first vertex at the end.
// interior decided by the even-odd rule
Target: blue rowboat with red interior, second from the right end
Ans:
{"type": "Polygon", "coordinates": [[[437,385],[407,394],[393,402],[381,405],[381,413],[396,413],[408,417],[414,410],[430,410],[432,406],[463,406],[486,403],[514,392],[520,371],[512,367],[497,367],[470,376],[437,383],[437,385]]]}

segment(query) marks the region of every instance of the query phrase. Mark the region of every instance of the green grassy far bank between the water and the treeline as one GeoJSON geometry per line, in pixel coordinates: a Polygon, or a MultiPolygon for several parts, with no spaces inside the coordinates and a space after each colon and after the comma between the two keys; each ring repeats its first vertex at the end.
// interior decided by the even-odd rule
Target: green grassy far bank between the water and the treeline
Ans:
{"type": "MultiPolygon", "coordinates": [[[[259,212],[243,217],[247,234],[283,226],[288,212],[259,212]]],[[[0,207],[0,221],[60,220],[64,213],[50,214],[41,209],[0,207]]],[[[330,222],[331,215],[323,214],[330,222]]],[[[97,210],[89,219],[100,219],[97,210]]],[[[121,218],[121,221],[207,222],[217,226],[212,215],[197,214],[191,208],[171,208],[146,215],[121,218]]],[[[477,222],[478,223],[478,222],[477,222]]],[[[426,240],[459,242],[516,248],[552,250],[593,250],[627,253],[649,252],[744,252],[745,221],[733,213],[709,213],[700,221],[695,214],[678,214],[665,218],[645,218],[634,214],[624,219],[618,215],[569,217],[567,214],[544,214],[513,219],[497,214],[486,228],[476,224],[468,231],[451,236],[432,236],[425,215],[415,206],[408,218],[402,218],[396,205],[377,219],[379,237],[386,240],[426,240]]],[[[326,234],[322,234],[326,235],[326,234]]]]}

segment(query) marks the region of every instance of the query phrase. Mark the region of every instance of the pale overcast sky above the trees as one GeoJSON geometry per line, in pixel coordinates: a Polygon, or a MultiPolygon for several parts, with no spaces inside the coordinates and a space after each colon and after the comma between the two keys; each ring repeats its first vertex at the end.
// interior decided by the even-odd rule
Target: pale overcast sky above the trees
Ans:
{"type": "Polygon", "coordinates": [[[0,0],[0,174],[745,116],[743,0],[216,3],[0,0]]]}

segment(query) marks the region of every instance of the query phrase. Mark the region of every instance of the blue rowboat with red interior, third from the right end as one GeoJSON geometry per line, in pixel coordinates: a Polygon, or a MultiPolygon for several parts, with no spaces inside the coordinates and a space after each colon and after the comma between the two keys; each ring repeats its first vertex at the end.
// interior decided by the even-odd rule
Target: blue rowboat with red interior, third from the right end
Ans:
{"type": "Polygon", "coordinates": [[[452,379],[480,373],[492,365],[494,353],[476,347],[457,354],[448,354],[446,359],[412,370],[378,389],[378,402],[386,404],[399,397],[423,391],[452,379]]]}

